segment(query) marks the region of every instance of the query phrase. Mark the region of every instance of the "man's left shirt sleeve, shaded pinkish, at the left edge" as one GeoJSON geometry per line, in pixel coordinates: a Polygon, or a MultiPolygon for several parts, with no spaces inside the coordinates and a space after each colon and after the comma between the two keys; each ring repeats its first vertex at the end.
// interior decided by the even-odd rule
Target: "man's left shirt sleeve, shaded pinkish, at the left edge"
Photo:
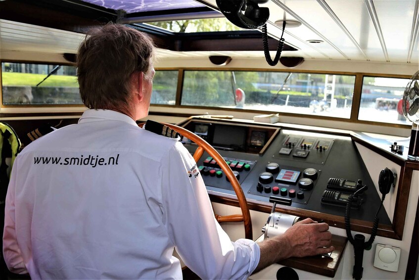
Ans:
{"type": "Polygon", "coordinates": [[[16,239],[16,220],[15,220],[15,186],[17,178],[18,158],[14,161],[14,167],[10,175],[10,182],[7,189],[6,205],[4,211],[4,231],[3,231],[3,256],[8,269],[17,274],[27,274],[25,262],[19,249],[16,239]]]}

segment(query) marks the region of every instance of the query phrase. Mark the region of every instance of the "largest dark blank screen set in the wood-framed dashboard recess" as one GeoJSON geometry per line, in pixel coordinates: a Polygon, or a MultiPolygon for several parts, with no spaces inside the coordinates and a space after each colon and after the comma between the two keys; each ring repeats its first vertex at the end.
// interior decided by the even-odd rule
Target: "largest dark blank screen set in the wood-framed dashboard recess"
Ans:
{"type": "Polygon", "coordinates": [[[242,147],[246,140],[246,127],[217,124],[214,129],[213,144],[224,147],[242,147]]]}

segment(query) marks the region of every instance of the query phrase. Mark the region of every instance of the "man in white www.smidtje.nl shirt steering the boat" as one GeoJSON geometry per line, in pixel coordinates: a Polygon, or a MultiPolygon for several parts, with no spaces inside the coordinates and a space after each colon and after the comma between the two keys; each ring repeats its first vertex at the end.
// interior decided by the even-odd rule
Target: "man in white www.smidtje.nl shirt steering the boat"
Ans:
{"type": "Polygon", "coordinates": [[[176,247],[203,279],[245,279],[290,256],[331,252],[327,224],[304,220],[256,244],[232,242],[216,222],[196,163],[178,138],[138,127],[147,116],[151,40],[108,24],[77,56],[87,110],[16,158],[3,253],[33,279],[181,279],[176,247]],[[326,247],[326,248],[324,248],[326,247]]]}

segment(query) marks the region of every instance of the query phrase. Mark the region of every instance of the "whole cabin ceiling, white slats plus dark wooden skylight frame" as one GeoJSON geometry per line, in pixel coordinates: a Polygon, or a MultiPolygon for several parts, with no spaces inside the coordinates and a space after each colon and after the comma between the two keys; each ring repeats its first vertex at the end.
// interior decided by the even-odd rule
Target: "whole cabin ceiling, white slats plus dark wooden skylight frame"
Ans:
{"type": "MultiPolygon", "coordinates": [[[[199,15],[205,16],[205,13],[222,16],[217,10],[215,0],[55,0],[49,2],[51,4],[47,5],[46,0],[0,1],[0,50],[2,53],[13,51],[74,54],[79,43],[84,39],[83,32],[88,29],[89,25],[93,25],[93,22],[96,24],[106,22],[109,18],[118,18],[118,20],[122,18],[122,22],[125,20],[142,28],[146,26],[144,22],[153,19],[157,21],[164,18],[196,18],[199,15]],[[66,11],[65,8],[69,4],[77,5],[77,8],[71,7],[66,11]],[[21,12],[13,14],[13,11],[16,12],[17,9],[21,9],[21,12]],[[37,14],[42,9],[49,9],[50,13],[56,13],[56,18],[46,15],[48,16],[46,19],[45,15],[37,14]],[[30,11],[34,14],[31,15],[30,11]],[[72,17],[63,17],[66,12],[71,12],[72,17]],[[80,20],[81,18],[86,19],[86,22],[80,20]]],[[[296,51],[284,51],[282,56],[300,56],[306,60],[330,59],[408,64],[419,62],[418,0],[270,0],[260,6],[270,9],[267,27],[272,38],[279,39],[282,32],[282,26],[277,26],[276,21],[285,18],[301,22],[299,27],[285,27],[285,43],[291,47],[289,49],[295,48],[296,51]],[[322,43],[309,43],[312,40],[322,43]]],[[[207,35],[202,34],[195,40],[204,41],[213,38],[206,39],[207,35]]],[[[207,45],[206,48],[198,46],[178,50],[165,47],[168,45],[167,42],[157,44],[157,46],[159,47],[158,56],[161,58],[208,56],[263,58],[262,40],[258,39],[259,41],[260,47],[243,50],[237,48],[229,50],[230,44],[219,42],[218,45],[223,45],[220,47],[217,46],[216,41],[213,45],[201,44],[207,45]]],[[[270,47],[271,50],[276,49],[276,46],[272,44],[270,47]]],[[[275,52],[272,51],[271,56],[274,55],[275,52]]]]}

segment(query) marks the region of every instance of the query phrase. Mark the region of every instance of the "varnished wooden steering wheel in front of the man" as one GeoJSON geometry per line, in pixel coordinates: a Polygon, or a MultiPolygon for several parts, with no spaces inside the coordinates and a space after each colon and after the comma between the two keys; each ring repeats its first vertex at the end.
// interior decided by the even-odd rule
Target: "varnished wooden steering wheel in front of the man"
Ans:
{"type": "MultiPolygon", "coordinates": [[[[217,164],[224,171],[224,173],[226,174],[227,178],[229,179],[230,183],[233,186],[242,214],[235,214],[235,215],[229,215],[229,216],[215,215],[215,218],[217,219],[218,223],[243,222],[245,237],[247,239],[253,239],[252,238],[253,237],[252,220],[250,219],[249,207],[247,205],[246,197],[244,196],[243,190],[241,189],[237,178],[234,176],[232,168],[230,168],[227,165],[226,161],[217,152],[217,150],[215,150],[210,144],[208,144],[208,142],[206,142],[204,139],[202,139],[198,135],[178,125],[164,123],[164,122],[162,122],[162,124],[170,127],[171,129],[175,130],[176,132],[180,133],[182,136],[185,136],[186,138],[188,138],[189,140],[193,141],[195,144],[198,145],[198,148],[193,154],[193,159],[195,160],[195,162],[198,162],[198,160],[202,157],[202,154],[204,153],[204,151],[206,151],[217,162],[217,164]]],[[[139,124],[139,126],[142,126],[142,125],[143,123],[139,124]]]]}

